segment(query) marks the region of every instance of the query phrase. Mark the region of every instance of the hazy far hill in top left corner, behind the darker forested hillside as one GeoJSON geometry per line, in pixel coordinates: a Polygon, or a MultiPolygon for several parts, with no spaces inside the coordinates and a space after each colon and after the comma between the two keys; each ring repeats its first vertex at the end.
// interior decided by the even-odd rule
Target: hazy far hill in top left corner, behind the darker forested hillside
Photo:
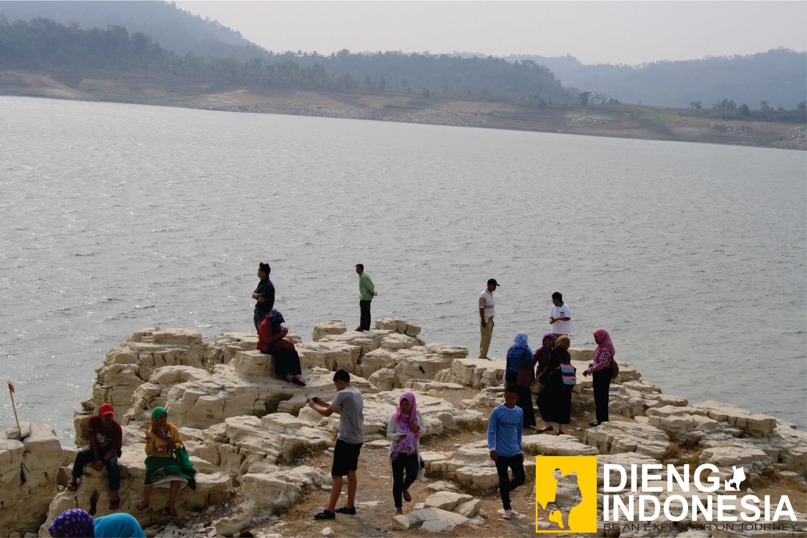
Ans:
{"type": "Polygon", "coordinates": [[[266,50],[210,19],[167,2],[0,2],[0,18],[9,23],[37,17],[56,23],[75,24],[79,28],[125,27],[131,34],[151,36],[161,48],[184,55],[215,56],[245,61],[266,57],[266,50]]]}

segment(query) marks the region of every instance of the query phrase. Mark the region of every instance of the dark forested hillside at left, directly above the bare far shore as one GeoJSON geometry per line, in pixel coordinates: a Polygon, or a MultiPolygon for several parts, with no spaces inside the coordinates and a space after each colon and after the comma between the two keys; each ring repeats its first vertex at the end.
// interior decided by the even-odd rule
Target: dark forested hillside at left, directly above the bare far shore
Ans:
{"type": "Polygon", "coordinates": [[[535,106],[577,98],[548,69],[529,60],[348,51],[330,56],[269,53],[266,59],[243,62],[205,59],[191,53],[180,56],[142,32],[130,35],[124,27],[82,29],[41,18],[0,21],[0,69],[110,69],[207,77],[252,87],[518,98],[535,106]]]}

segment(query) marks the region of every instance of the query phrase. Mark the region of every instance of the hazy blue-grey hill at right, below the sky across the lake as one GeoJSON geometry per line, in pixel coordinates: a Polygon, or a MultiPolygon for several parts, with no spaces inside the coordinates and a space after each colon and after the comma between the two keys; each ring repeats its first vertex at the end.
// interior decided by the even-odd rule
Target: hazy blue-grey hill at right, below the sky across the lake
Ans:
{"type": "Polygon", "coordinates": [[[700,101],[709,108],[728,98],[751,109],[759,109],[765,101],[789,110],[807,98],[807,52],[786,48],[639,66],[583,65],[574,56],[511,55],[507,59],[533,60],[567,87],[634,104],[686,108],[700,101]]]}

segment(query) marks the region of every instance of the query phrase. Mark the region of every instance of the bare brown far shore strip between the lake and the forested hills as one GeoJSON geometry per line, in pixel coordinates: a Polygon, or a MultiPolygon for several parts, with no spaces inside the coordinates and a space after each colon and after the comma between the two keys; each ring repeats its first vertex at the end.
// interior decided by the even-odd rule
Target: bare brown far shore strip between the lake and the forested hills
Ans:
{"type": "Polygon", "coordinates": [[[713,119],[692,115],[692,111],[651,106],[554,105],[540,109],[516,101],[423,98],[420,94],[402,92],[340,94],[236,87],[213,92],[203,80],[149,78],[127,73],[6,70],[3,75],[6,81],[0,91],[16,97],[807,151],[807,125],[713,119]]]}

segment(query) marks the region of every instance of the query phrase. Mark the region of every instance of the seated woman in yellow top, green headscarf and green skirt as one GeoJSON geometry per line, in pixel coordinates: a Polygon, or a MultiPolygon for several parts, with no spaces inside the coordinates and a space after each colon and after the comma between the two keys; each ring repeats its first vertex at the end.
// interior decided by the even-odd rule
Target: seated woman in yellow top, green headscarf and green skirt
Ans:
{"type": "Polygon", "coordinates": [[[170,484],[168,506],[165,512],[177,515],[174,501],[179,488],[186,484],[191,490],[196,489],[194,465],[185,447],[182,437],[174,424],[168,421],[168,411],[164,407],[155,407],[152,412],[151,427],[146,430],[146,479],[143,500],[137,504],[138,510],[148,508],[148,500],[154,486],[170,484]]]}

